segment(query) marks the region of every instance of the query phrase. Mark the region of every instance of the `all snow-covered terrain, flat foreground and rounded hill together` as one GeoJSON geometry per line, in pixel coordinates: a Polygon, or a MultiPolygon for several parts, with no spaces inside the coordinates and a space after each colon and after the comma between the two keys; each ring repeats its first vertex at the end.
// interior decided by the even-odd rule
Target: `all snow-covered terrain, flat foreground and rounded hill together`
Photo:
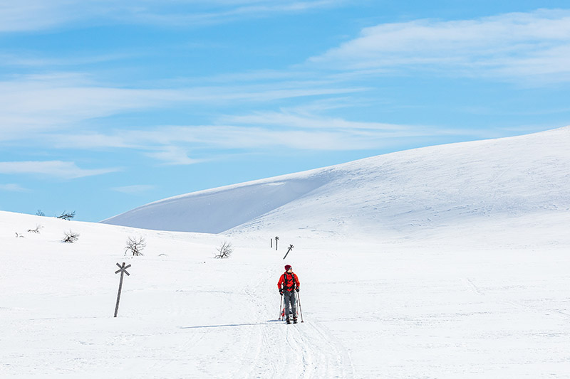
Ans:
{"type": "Polygon", "coordinates": [[[219,234],[0,212],[0,378],[569,378],[568,147],[563,128],[155,203],[229,206],[219,234]],[[276,321],[285,263],[302,324],[276,321]]]}

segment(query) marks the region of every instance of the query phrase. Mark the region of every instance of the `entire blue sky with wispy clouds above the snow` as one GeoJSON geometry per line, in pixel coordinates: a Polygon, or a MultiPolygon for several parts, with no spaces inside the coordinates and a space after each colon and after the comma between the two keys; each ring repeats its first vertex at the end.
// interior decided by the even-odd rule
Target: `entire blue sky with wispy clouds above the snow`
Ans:
{"type": "Polygon", "coordinates": [[[567,1],[22,0],[0,46],[0,209],[21,213],[99,221],[570,124],[567,1]]]}

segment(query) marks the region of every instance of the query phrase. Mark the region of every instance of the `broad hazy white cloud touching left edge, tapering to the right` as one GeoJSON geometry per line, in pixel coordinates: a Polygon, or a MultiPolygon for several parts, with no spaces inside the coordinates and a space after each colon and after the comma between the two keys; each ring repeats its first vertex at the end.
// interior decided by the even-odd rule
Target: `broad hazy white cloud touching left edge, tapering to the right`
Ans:
{"type": "Polygon", "coordinates": [[[0,82],[0,141],[77,127],[86,119],[152,109],[170,90],[104,87],[82,75],[38,75],[0,82]]]}

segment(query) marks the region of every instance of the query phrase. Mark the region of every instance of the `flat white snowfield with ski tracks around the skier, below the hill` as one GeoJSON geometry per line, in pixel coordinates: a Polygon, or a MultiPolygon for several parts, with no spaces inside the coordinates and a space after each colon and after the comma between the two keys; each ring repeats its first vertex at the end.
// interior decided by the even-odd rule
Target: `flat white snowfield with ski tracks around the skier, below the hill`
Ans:
{"type": "Polygon", "coordinates": [[[569,244],[488,242],[504,230],[465,233],[477,247],[282,235],[275,251],[255,233],[6,212],[0,230],[1,378],[570,377],[569,244]],[[61,243],[65,230],[78,242],[61,243]],[[145,255],[125,257],[139,235],[145,255]],[[224,238],[234,254],[215,260],[224,238]],[[132,267],[114,319],[120,262],[132,267]],[[301,279],[302,324],[276,321],[285,263],[301,279]]]}

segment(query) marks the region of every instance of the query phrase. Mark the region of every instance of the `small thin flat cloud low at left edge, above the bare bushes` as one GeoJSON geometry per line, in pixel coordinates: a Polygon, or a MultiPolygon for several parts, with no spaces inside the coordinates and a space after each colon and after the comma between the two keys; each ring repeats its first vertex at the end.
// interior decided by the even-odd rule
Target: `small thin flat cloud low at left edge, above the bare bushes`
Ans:
{"type": "Polygon", "coordinates": [[[117,171],[120,169],[80,169],[75,163],[66,161],[0,162],[0,174],[33,174],[74,179],[117,171]]]}

